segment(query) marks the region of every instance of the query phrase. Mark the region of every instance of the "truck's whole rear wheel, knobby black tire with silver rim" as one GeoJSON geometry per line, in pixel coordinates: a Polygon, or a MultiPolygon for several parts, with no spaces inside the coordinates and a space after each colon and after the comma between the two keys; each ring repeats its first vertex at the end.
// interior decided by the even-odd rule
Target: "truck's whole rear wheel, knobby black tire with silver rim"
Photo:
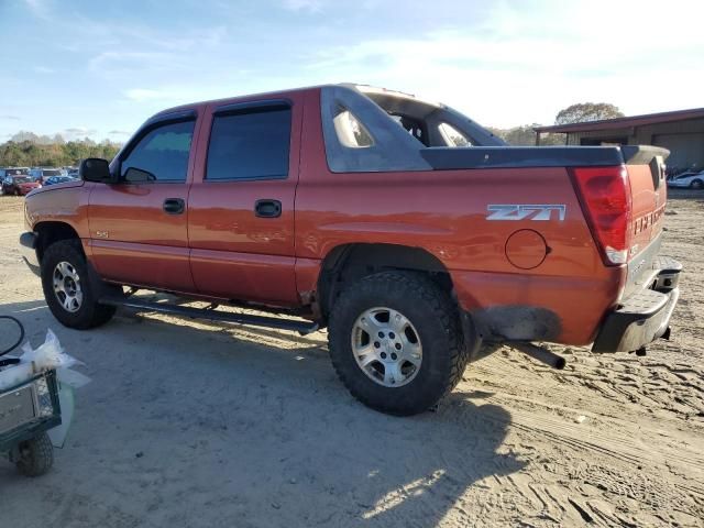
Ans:
{"type": "Polygon", "coordinates": [[[459,383],[469,359],[457,308],[419,273],[384,272],[351,285],[332,309],[329,338],[350,393],[391,415],[435,406],[459,383]]]}

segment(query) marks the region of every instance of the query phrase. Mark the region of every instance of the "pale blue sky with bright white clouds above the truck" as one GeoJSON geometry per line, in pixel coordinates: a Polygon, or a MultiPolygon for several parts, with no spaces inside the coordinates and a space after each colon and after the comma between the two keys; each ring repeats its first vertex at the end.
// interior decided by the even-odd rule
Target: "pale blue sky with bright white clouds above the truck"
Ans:
{"type": "Polygon", "coordinates": [[[700,108],[702,21],[686,0],[0,0],[0,142],[123,142],[164,108],[327,82],[499,128],[700,108]]]}

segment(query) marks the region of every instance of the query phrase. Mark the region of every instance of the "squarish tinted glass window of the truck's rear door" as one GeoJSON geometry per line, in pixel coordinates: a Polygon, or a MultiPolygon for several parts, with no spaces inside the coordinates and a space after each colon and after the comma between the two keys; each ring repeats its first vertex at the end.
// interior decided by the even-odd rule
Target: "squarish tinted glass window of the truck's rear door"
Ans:
{"type": "Polygon", "coordinates": [[[289,144],[289,107],[216,114],[210,131],[206,179],[286,178],[289,144]]]}

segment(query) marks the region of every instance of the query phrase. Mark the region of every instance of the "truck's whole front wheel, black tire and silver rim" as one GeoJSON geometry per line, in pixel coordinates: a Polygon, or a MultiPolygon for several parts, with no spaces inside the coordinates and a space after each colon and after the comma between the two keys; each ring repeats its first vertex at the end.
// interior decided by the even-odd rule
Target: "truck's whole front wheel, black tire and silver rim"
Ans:
{"type": "Polygon", "coordinates": [[[98,302],[100,292],[89,279],[80,241],[62,240],[50,245],[42,257],[41,274],[46,304],[65,327],[95,328],[114,315],[114,307],[98,302]]]}

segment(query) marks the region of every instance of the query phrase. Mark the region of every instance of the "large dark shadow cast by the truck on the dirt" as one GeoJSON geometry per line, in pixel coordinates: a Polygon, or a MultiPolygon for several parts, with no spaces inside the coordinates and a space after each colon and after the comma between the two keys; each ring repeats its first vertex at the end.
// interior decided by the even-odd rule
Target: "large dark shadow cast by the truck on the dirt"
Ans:
{"type": "Polygon", "coordinates": [[[277,348],[187,321],[122,318],[77,332],[41,304],[0,311],[36,334],[54,329],[92,378],[38,492],[0,465],[0,481],[12,481],[7,504],[38,493],[34,519],[62,525],[52,502],[73,501],[70,515],[106,526],[100,516],[116,508],[155,526],[435,526],[450,512],[472,524],[485,506],[472,486],[488,490],[525,466],[497,452],[512,421],[504,408],[463,395],[416,417],[375,413],[346,393],[315,340],[277,348]],[[108,490],[129,494],[130,510],[108,490]]]}

